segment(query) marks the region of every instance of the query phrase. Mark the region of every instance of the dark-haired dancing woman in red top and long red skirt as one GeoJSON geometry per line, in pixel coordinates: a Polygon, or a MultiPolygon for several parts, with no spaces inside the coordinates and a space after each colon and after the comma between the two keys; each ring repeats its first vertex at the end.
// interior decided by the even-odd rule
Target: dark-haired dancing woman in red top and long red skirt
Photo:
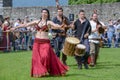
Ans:
{"type": "Polygon", "coordinates": [[[50,21],[50,14],[48,9],[42,9],[41,20],[32,21],[27,24],[22,24],[11,30],[21,27],[37,25],[36,38],[33,44],[32,53],[32,77],[42,77],[49,73],[49,75],[65,75],[68,67],[61,63],[54,53],[50,40],[48,37],[48,30],[50,27],[60,29],[61,26],[50,21]]]}

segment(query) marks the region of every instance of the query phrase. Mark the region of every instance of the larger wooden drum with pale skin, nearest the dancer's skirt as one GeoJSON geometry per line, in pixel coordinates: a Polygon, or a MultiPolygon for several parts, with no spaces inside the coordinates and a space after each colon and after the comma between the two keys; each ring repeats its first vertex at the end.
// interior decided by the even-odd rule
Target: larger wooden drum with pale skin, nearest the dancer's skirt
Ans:
{"type": "Polygon", "coordinates": [[[67,37],[65,39],[62,52],[68,56],[74,56],[75,47],[80,43],[80,40],[75,37],[67,37]]]}

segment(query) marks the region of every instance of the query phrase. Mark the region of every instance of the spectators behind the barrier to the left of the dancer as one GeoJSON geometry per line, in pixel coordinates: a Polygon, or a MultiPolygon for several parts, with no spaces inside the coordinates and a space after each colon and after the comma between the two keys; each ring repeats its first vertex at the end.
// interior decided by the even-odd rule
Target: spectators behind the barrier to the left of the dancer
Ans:
{"type": "Polygon", "coordinates": [[[6,17],[4,21],[0,21],[0,50],[2,51],[18,51],[29,50],[33,45],[33,39],[35,34],[35,28],[27,27],[20,28],[14,32],[7,32],[12,27],[17,27],[20,24],[28,23],[28,16],[22,20],[20,18],[16,20],[10,20],[10,17],[6,17]]]}

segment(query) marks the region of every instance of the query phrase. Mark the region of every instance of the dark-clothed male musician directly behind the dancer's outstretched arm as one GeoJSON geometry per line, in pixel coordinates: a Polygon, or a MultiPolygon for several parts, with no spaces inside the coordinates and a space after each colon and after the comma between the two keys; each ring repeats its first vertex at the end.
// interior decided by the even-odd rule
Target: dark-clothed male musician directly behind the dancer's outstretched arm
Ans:
{"type": "MultiPolygon", "coordinates": [[[[63,15],[63,9],[58,8],[57,16],[53,18],[53,22],[61,25],[64,19],[66,20],[66,25],[69,25],[70,21],[66,16],[63,15]]],[[[56,36],[54,38],[54,49],[57,57],[60,57],[60,50],[63,48],[63,43],[66,38],[66,31],[62,30],[61,28],[61,29],[52,29],[52,32],[56,33],[56,36]]],[[[66,65],[66,60],[67,60],[67,56],[62,54],[62,61],[65,65],[66,65]]]]}

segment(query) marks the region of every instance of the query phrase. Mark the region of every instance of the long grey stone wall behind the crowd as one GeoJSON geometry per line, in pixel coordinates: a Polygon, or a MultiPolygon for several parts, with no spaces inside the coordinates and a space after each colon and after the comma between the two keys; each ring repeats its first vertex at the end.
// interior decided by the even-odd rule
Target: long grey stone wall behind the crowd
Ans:
{"type": "MultiPolygon", "coordinates": [[[[40,11],[44,7],[19,7],[3,8],[3,16],[10,16],[11,19],[24,18],[28,15],[31,19],[39,19],[40,11]]],[[[45,7],[50,10],[51,18],[56,15],[56,7],[45,7]]],[[[63,6],[64,14],[69,16],[70,13],[73,13],[77,18],[77,14],[80,9],[84,9],[86,16],[89,19],[94,9],[97,9],[99,18],[102,21],[107,22],[109,19],[120,19],[120,3],[106,3],[106,4],[85,4],[85,5],[73,5],[73,6],[63,6]]]]}

